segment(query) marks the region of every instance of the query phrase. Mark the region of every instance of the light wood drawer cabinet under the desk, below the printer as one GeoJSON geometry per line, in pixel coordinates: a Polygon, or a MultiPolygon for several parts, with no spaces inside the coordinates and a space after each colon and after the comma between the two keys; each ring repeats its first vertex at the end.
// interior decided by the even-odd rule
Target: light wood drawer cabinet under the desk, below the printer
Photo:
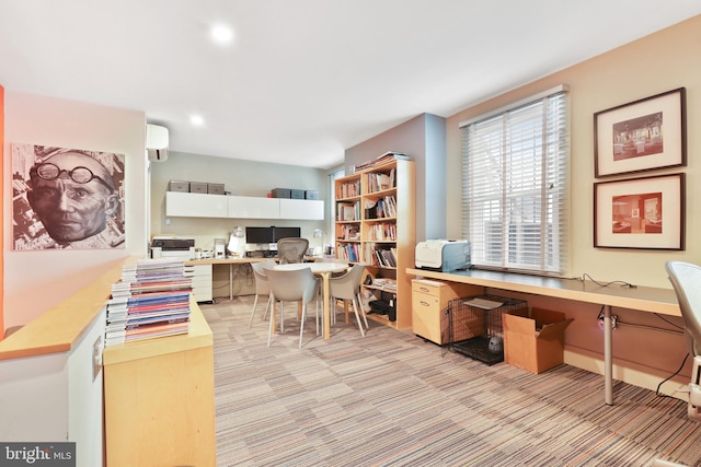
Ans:
{"type": "Polygon", "coordinates": [[[412,281],[412,330],[432,342],[448,343],[448,302],[479,295],[482,288],[461,283],[415,279],[412,281]]]}

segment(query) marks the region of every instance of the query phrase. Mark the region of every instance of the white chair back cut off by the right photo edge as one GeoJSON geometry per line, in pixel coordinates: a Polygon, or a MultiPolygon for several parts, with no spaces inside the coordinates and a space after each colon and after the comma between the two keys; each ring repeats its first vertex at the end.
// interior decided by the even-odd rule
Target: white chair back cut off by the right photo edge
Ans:
{"type": "Polygon", "coordinates": [[[682,261],[665,265],[677,294],[687,346],[692,355],[701,353],[701,267],[682,261]]]}

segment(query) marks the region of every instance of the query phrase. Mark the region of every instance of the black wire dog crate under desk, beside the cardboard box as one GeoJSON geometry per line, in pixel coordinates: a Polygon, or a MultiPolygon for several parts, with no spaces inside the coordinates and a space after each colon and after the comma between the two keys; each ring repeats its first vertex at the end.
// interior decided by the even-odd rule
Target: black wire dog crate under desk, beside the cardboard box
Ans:
{"type": "Polygon", "coordinates": [[[524,300],[497,295],[476,295],[448,302],[449,349],[487,365],[504,361],[502,314],[528,308],[524,300]]]}

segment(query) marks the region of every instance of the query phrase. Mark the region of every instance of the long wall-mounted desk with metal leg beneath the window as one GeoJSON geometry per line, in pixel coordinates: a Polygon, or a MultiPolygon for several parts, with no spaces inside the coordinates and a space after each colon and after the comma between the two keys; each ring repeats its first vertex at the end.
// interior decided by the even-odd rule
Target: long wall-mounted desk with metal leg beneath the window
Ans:
{"type": "Polygon", "coordinates": [[[611,307],[637,310],[647,313],[681,316],[677,296],[671,289],[648,287],[621,288],[602,287],[590,281],[555,279],[540,276],[519,275],[470,269],[467,271],[435,272],[407,268],[410,276],[438,279],[448,282],[468,283],[484,288],[531,293],[542,296],[595,303],[604,306],[604,381],[605,401],[613,405],[613,357],[611,307]]]}

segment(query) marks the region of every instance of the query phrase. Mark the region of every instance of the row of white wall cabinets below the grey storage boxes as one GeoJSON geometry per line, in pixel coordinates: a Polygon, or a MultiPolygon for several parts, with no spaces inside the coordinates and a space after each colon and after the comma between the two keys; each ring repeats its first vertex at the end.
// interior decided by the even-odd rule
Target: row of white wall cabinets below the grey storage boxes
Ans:
{"type": "Polygon", "coordinates": [[[166,191],[165,215],[181,218],[323,220],[319,199],[260,198],[166,191]]]}

